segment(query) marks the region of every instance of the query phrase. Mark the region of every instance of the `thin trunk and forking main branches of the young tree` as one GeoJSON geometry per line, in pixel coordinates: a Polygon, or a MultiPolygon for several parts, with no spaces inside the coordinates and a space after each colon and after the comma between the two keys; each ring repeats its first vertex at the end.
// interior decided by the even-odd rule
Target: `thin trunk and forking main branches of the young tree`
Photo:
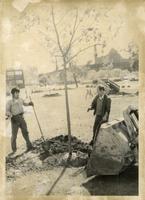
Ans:
{"type": "MultiPolygon", "coordinates": [[[[88,43],[92,39],[92,37],[89,35],[90,29],[88,27],[87,27],[87,29],[83,30],[83,33],[81,33],[79,37],[77,37],[77,38],[75,37],[77,29],[80,26],[80,22],[82,21],[82,19],[80,19],[80,21],[78,22],[78,9],[75,9],[75,20],[74,20],[73,28],[70,31],[70,38],[69,38],[67,45],[63,46],[62,43],[61,43],[61,39],[62,39],[61,34],[59,33],[58,28],[57,28],[57,23],[56,23],[56,20],[55,20],[55,14],[54,14],[53,6],[51,7],[51,16],[52,16],[52,23],[53,23],[53,26],[54,26],[54,31],[55,31],[55,34],[56,34],[57,44],[58,44],[59,51],[60,51],[60,54],[61,54],[62,60],[63,60],[65,101],[66,101],[66,113],[67,113],[67,127],[68,127],[68,136],[69,136],[69,153],[71,154],[71,120],[70,120],[70,109],[69,109],[69,99],[68,99],[68,89],[67,89],[67,66],[69,66],[71,68],[71,61],[75,57],[77,57],[80,53],[82,53],[83,51],[85,51],[85,50],[87,50],[91,47],[94,47],[96,49],[97,45],[104,45],[104,42],[99,43],[97,41],[97,37],[94,36],[95,39],[93,38],[92,44],[88,45],[88,43]],[[74,44],[76,42],[81,42],[81,40],[83,38],[83,34],[85,35],[87,46],[84,47],[84,48],[80,48],[78,51],[76,51],[72,55],[72,48],[73,48],[74,44]]],[[[91,29],[91,31],[92,31],[92,29],[91,29]]],[[[76,85],[77,85],[75,73],[73,73],[73,76],[74,76],[74,80],[75,80],[76,85]]]]}

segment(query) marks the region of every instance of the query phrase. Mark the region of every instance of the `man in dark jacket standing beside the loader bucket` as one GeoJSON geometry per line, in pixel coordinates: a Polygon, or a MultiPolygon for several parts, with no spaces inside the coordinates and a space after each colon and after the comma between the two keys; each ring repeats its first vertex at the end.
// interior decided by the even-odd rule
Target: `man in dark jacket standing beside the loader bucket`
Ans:
{"type": "Polygon", "coordinates": [[[97,87],[97,96],[93,99],[91,106],[87,111],[94,110],[95,122],[93,126],[93,138],[90,145],[93,145],[102,123],[105,123],[109,119],[111,108],[111,99],[105,94],[105,87],[99,85],[97,87]]]}

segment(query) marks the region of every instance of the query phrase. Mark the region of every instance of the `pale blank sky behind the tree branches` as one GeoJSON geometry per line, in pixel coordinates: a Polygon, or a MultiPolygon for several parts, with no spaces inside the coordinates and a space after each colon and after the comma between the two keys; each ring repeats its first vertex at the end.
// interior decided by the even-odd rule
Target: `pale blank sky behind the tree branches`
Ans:
{"type": "MultiPolygon", "coordinates": [[[[22,2],[22,1],[21,1],[22,2]]],[[[6,68],[16,67],[27,69],[36,67],[39,73],[45,73],[55,70],[55,49],[57,44],[52,42],[52,46],[46,43],[50,39],[56,41],[56,35],[53,29],[50,5],[40,0],[25,0],[24,4],[19,4],[19,0],[12,1],[5,6],[5,12],[2,18],[2,43],[4,49],[4,65],[6,68]],[[18,3],[18,6],[17,6],[18,3]]],[[[86,28],[96,28],[94,34],[89,33],[91,38],[101,33],[102,39],[106,41],[106,46],[97,46],[98,56],[106,55],[110,49],[115,48],[123,57],[129,54],[124,51],[128,44],[133,41],[133,35],[129,30],[127,9],[121,4],[102,5],[87,4],[64,6],[60,4],[54,5],[55,19],[58,23],[61,43],[67,45],[70,38],[69,32],[73,29],[75,19],[75,9],[78,8],[78,19],[83,19],[75,37],[79,37],[82,30],[86,28]],[[71,10],[72,9],[72,10],[71,10]],[[90,14],[84,15],[84,12],[90,14]],[[71,10],[71,11],[70,11],[71,10]],[[98,13],[96,15],[96,13],[98,13]],[[95,16],[97,16],[95,18],[95,16]]],[[[143,11],[142,11],[143,12],[143,11]]],[[[72,48],[71,54],[75,54],[78,50],[91,45],[90,42],[77,42],[72,48]]],[[[56,53],[56,54],[59,54],[56,53]]],[[[58,65],[61,66],[61,58],[57,58],[58,65]]],[[[74,61],[77,65],[84,65],[88,61],[94,61],[94,48],[79,54],[74,61]]]]}

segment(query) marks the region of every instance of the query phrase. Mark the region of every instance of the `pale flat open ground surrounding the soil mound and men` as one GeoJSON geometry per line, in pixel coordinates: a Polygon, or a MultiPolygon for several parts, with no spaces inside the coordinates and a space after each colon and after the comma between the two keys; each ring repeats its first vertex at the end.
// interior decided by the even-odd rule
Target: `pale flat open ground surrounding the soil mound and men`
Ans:
{"type": "MultiPolygon", "coordinates": [[[[55,91],[56,92],[56,91],[55,91]]],[[[67,133],[64,91],[57,91],[60,95],[55,97],[43,97],[49,92],[33,93],[32,100],[46,138],[52,138],[67,133]]],[[[94,116],[87,112],[92,97],[85,98],[86,88],[79,87],[69,90],[70,113],[72,134],[84,142],[89,142],[92,137],[92,126],[94,116]]],[[[112,95],[112,108],[110,121],[122,117],[122,111],[130,104],[138,103],[136,95],[112,95]]],[[[27,121],[30,138],[32,141],[40,138],[40,131],[32,108],[26,109],[25,119],[27,121]]],[[[7,154],[10,148],[10,124],[7,122],[7,154]]],[[[21,133],[17,138],[18,152],[25,149],[25,142],[21,133]]],[[[32,153],[27,153],[28,157],[32,153]]],[[[32,159],[33,160],[33,159],[32,159]]],[[[35,159],[34,159],[35,161],[35,159]]],[[[137,195],[138,173],[137,168],[129,169],[120,176],[105,176],[87,178],[82,167],[51,167],[44,171],[26,172],[20,174],[15,181],[7,181],[8,195],[45,195],[45,194],[83,194],[83,195],[137,195]],[[56,181],[58,179],[58,182],[56,181]],[[56,183],[56,184],[55,184],[56,183]],[[54,186],[54,187],[53,187],[54,186]]],[[[14,172],[13,172],[14,173],[14,172]]]]}

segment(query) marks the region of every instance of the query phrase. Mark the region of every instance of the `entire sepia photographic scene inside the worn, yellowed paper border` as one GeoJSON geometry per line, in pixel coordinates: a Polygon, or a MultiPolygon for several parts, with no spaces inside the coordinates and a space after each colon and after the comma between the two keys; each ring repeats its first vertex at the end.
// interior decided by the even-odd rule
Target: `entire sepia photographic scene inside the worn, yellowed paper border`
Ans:
{"type": "Polygon", "coordinates": [[[7,195],[138,195],[127,16],[120,3],[4,3],[7,195]]]}

